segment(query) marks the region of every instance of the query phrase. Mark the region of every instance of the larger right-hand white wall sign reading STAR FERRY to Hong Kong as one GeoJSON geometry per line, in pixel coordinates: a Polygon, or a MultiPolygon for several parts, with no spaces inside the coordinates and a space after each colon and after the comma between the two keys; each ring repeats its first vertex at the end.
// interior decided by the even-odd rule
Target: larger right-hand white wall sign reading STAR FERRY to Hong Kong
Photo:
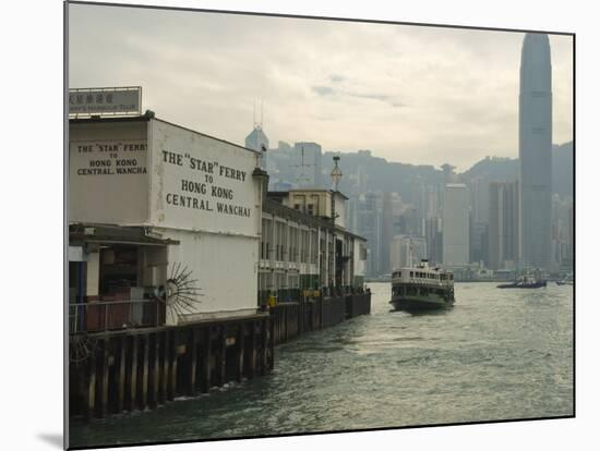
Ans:
{"type": "Polygon", "coordinates": [[[215,233],[257,234],[256,155],[153,120],[151,222],[215,233]]]}

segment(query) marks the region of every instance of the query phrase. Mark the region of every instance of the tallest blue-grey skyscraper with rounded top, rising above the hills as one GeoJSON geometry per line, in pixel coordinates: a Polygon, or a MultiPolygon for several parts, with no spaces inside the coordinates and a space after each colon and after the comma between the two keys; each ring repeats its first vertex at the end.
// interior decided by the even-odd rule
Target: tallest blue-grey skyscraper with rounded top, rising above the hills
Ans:
{"type": "Polygon", "coordinates": [[[552,66],[548,36],[523,41],[519,93],[521,264],[550,267],[552,186],[552,66]]]}

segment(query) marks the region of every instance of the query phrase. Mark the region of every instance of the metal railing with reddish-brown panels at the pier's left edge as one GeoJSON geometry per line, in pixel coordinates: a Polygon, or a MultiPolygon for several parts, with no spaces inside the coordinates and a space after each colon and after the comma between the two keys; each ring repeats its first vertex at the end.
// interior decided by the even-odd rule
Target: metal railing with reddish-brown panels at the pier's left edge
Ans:
{"type": "Polygon", "coordinates": [[[164,324],[165,303],[159,300],[69,304],[69,333],[100,332],[164,324]]]}

